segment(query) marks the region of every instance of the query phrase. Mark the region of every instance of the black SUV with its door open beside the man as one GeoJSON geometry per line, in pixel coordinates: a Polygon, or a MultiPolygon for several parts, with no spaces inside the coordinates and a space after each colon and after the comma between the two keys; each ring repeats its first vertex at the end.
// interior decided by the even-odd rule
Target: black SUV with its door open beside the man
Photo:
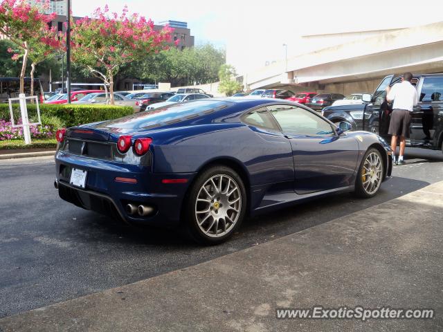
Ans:
{"type": "MultiPolygon", "coordinates": [[[[345,121],[352,130],[372,131],[390,139],[388,129],[392,104],[386,101],[386,86],[400,81],[401,76],[386,76],[375,89],[370,102],[326,107],[323,116],[334,123],[345,121]]],[[[417,88],[419,102],[413,109],[410,139],[406,143],[411,147],[442,149],[443,73],[413,75],[411,83],[417,88]]]]}

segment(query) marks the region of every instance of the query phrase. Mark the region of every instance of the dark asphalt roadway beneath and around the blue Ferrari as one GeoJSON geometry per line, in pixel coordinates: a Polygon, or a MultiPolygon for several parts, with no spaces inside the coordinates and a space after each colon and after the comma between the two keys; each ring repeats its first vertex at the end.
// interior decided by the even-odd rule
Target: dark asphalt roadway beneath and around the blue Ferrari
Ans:
{"type": "Polygon", "coordinates": [[[406,158],[373,199],[341,194],[257,216],[214,247],[174,230],[134,230],[62,201],[51,157],[1,160],[0,317],[195,266],[443,181],[441,151],[408,149],[406,158]]]}

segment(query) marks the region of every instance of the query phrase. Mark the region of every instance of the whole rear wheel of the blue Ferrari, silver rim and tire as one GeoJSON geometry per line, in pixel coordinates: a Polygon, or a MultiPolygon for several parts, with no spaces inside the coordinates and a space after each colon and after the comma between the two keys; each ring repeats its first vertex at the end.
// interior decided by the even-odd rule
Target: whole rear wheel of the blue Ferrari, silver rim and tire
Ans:
{"type": "Polygon", "coordinates": [[[246,212],[246,190],[228,167],[206,169],[192,185],[186,203],[186,222],[192,237],[203,244],[226,241],[246,212]]]}

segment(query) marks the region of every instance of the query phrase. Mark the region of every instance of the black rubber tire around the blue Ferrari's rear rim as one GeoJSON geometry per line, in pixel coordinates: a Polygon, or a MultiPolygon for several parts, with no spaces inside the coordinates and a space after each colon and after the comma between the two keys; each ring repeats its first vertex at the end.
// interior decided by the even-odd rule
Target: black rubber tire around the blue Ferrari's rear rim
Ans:
{"type": "MultiPolygon", "coordinates": [[[[216,181],[216,180],[215,180],[216,181]]],[[[222,181],[222,180],[220,180],[222,181]]],[[[226,179],[224,180],[226,181],[226,179]]],[[[222,185],[228,186],[228,191],[229,190],[229,186],[230,183],[223,183],[222,185]]],[[[231,183],[231,185],[233,185],[231,183]]],[[[218,186],[218,183],[217,183],[218,186]]],[[[222,190],[223,191],[223,190],[222,190]]],[[[227,195],[227,194],[226,194],[227,195]]],[[[215,196],[217,196],[217,194],[215,194],[215,196]]],[[[201,197],[201,196],[200,196],[201,197]]],[[[237,197],[237,198],[238,198],[237,197]]],[[[217,197],[215,197],[215,199],[217,200],[217,197]]],[[[218,199],[220,199],[218,197],[218,199]]],[[[228,199],[229,201],[229,199],[228,199]]],[[[230,169],[229,167],[226,166],[221,166],[221,165],[217,165],[217,166],[213,166],[210,167],[208,169],[205,169],[203,172],[201,172],[201,174],[199,174],[196,178],[196,180],[194,181],[194,183],[192,184],[192,187],[190,188],[190,191],[188,192],[188,199],[186,199],[185,202],[185,207],[184,207],[184,218],[185,218],[185,222],[186,222],[186,228],[190,234],[190,236],[192,237],[192,239],[194,239],[195,241],[197,241],[198,243],[204,244],[204,245],[215,245],[215,244],[219,244],[219,243],[223,243],[224,241],[226,241],[227,239],[229,239],[235,232],[235,230],[237,230],[237,228],[239,228],[240,224],[242,223],[244,216],[246,214],[246,189],[244,187],[244,183],[242,181],[242,178],[240,178],[240,176],[237,174],[237,172],[235,172],[233,169],[230,169]],[[205,183],[207,183],[208,181],[210,181],[211,178],[215,178],[217,179],[217,176],[226,176],[226,178],[229,181],[233,181],[233,183],[235,183],[235,185],[237,185],[238,191],[236,191],[236,194],[238,195],[238,197],[240,198],[239,200],[239,212],[235,212],[235,210],[233,210],[233,212],[226,212],[226,213],[233,213],[237,216],[237,219],[235,221],[235,223],[230,224],[230,228],[228,228],[228,231],[226,231],[226,234],[217,234],[218,231],[218,226],[219,226],[219,222],[221,223],[221,220],[224,220],[224,228],[226,230],[226,227],[228,227],[226,224],[229,222],[227,222],[226,220],[229,219],[219,219],[217,221],[215,221],[217,223],[217,225],[214,225],[214,228],[212,229],[212,232],[216,232],[216,234],[212,234],[212,237],[209,234],[209,232],[211,232],[211,230],[208,230],[208,233],[204,232],[204,230],[201,229],[201,227],[199,226],[199,221],[197,220],[199,217],[197,217],[197,204],[199,204],[197,202],[197,198],[199,197],[199,194],[201,195],[201,190],[203,189],[202,187],[205,185],[205,183]]],[[[202,204],[206,204],[206,203],[202,203],[202,204]]],[[[207,203],[208,204],[208,209],[214,210],[213,207],[213,203],[207,203]]],[[[220,205],[221,206],[221,205],[220,205]]],[[[226,206],[228,206],[228,204],[226,204],[226,206]]],[[[226,208],[225,206],[225,208],[226,208]]],[[[221,212],[221,208],[220,210],[217,210],[217,212],[221,212]]],[[[217,213],[214,210],[214,213],[217,213]]],[[[213,214],[213,211],[211,211],[209,214],[213,214]]],[[[214,219],[213,216],[208,216],[208,219],[214,219]]],[[[232,215],[231,215],[232,216],[232,215]]],[[[210,225],[211,221],[208,221],[208,224],[210,225]]],[[[208,227],[208,224],[206,224],[206,226],[208,227]]],[[[204,227],[205,225],[203,224],[202,227],[204,227]]],[[[221,224],[220,224],[221,227],[221,224]]]]}

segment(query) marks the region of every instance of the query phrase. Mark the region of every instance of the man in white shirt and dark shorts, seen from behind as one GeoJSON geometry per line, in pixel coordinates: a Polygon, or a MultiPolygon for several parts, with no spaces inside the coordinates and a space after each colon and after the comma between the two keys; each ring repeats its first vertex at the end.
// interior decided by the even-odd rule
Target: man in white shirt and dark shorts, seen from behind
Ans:
{"type": "Polygon", "coordinates": [[[415,89],[415,86],[410,84],[412,79],[413,74],[404,73],[403,77],[401,77],[401,83],[394,84],[392,89],[390,89],[389,86],[386,88],[386,91],[388,92],[386,95],[386,100],[388,100],[388,102],[394,100],[388,133],[392,135],[390,147],[393,151],[392,161],[395,165],[405,164],[403,155],[406,147],[406,138],[409,138],[411,113],[413,111],[413,107],[417,105],[418,102],[417,89],[415,89]],[[397,149],[398,136],[400,136],[400,152],[399,159],[396,161],[395,150],[397,149]]]}

